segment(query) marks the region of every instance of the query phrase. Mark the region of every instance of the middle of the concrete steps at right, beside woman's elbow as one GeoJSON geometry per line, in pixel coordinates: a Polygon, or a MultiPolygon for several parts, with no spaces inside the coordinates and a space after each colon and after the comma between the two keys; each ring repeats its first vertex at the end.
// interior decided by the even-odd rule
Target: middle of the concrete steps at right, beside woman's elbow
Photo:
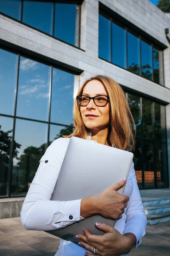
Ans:
{"type": "Polygon", "coordinates": [[[159,212],[169,212],[170,211],[170,203],[144,206],[144,211],[145,211],[146,215],[159,213],[159,212]]]}

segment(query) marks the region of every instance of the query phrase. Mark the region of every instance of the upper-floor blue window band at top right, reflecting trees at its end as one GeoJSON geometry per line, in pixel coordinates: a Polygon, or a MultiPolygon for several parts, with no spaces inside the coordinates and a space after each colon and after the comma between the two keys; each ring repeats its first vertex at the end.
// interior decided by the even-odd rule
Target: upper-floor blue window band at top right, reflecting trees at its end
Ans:
{"type": "Polygon", "coordinates": [[[103,13],[99,14],[99,58],[164,85],[163,51],[103,13]]]}

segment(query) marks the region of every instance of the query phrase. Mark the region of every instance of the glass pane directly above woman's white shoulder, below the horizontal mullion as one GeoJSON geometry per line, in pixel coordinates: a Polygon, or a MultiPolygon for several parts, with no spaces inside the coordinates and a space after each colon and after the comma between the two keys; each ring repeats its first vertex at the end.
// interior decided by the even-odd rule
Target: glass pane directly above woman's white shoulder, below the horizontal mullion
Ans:
{"type": "Polygon", "coordinates": [[[62,125],[50,125],[50,143],[63,135],[69,135],[73,132],[73,127],[62,125]]]}

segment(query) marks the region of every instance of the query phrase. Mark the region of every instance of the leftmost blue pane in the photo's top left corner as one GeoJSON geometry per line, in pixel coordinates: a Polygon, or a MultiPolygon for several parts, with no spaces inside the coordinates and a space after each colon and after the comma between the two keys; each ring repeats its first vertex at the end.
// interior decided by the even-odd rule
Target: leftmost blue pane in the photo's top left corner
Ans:
{"type": "Polygon", "coordinates": [[[20,20],[21,1],[20,0],[0,0],[0,12],[20,20]]]}

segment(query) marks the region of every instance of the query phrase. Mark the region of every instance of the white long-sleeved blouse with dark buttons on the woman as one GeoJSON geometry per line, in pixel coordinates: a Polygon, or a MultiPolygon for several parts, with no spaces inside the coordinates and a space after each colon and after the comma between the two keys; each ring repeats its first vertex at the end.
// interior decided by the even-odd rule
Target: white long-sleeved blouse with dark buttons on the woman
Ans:
{"type": "MultiPolygon", "coordinates": [[[[70,138],[54,140],[40,159],[40,165],[21,210],[21,222],[26,230],[54,230],[83,219],[80,216],[81,199],[73,201],[50,200],[69,140],[70,138]],[[70,215],[73,216],[71,220],[69,219],[70,215]]],[[[91,140],[91,136],[88,136],[87,140],[91,140]]],[[[116,221],[115,229],[121,234],[133,233],[136,236],[137,247],[145,234],[147,221],[133,162],[127,177],[124,194],[128,195],[130,199],[122,218],[116,221]]],[[[60,239],[56,256],[81,256],[87,251],[71,241],[60,239]]]]}

